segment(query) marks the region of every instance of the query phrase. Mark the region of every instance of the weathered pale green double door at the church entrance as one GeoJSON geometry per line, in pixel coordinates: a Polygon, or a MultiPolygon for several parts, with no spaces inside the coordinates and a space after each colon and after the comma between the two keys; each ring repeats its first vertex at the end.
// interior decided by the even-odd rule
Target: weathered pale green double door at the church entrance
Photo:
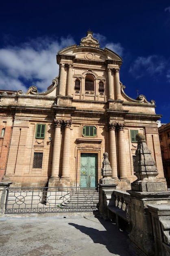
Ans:
{"type": "Polygon", "coordinates": [[[81,188],[97,186],[98,154],[81,153],[80,186],[81,188]]]}

